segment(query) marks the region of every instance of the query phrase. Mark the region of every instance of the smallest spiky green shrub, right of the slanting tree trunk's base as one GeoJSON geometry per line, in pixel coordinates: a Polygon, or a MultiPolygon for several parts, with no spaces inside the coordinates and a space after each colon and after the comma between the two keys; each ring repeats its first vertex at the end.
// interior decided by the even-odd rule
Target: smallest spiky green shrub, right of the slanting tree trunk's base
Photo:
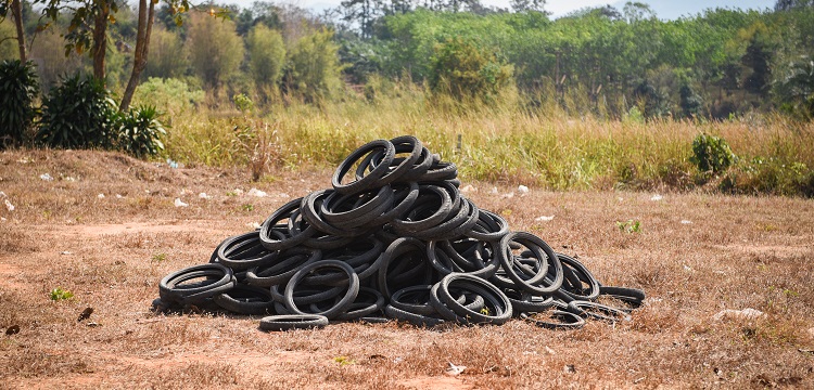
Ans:
{"type": "Polygon", "coordinates": [[[153,106],[139,106],[120,114],[116,126],[116,146],[139,158],[164,151],[161,136],[167,132],[157,117],[158,113],[153,106]]]}

